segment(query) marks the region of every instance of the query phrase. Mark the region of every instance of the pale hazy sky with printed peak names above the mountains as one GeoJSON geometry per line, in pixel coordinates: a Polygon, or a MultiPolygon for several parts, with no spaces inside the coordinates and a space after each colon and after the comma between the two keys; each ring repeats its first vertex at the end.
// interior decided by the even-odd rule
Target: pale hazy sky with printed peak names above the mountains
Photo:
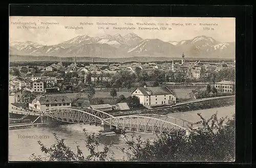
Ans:
{"type": "MultiPolygon", "coordinates": [[[[29,26],[29,25],[27,25],[29,26]]],[[[193,39],[196,36],[208,36],[219,42],[235,41],[235,18],[195,18],[195,17],[56,17],[56,16],[11,16],[10,17],[10,42],[13,41],[33,41],[44,45],[54,45],[76,36],[88,35],[91,37],[102,36],[105,34],[122,36],[128,33],[135,33],[143,39],[158,38],[163,41],[181,41],[193,39]],[[35,22],[30,26],[37,29],[20,29],[22,24],[13,24],[12,22],[35,22]],[[49,29],[38,29],[38,26],[47,26],[41,22],[57,22],[59,24],[50,24],[49,29]],[[80,25],[80,22],[90,22],[93,25],[80,25]],[[99,30],[100,25],[96,22],[112,22],[117,23],[116,27],[135,27],[135,30],[113,30],[113,25],[103,25],[109,27],[109,30],[99,30]],[[133,25],[125,25],[124,23],[133,23],[133,25]],[[137,23],[156,23],[152,25],[140,25],[137,23]],[[158,25],[158,23],[168,23],[169,25],[158,25]],[[192,23],[193,26],[172,26],[172,23],[192,23]],[[196,25],[194,25],[194,23],[196,25]],[[199,25],[200,23],[215,23],[218,25],[199,25]],[[83,30],[65,29],[65,26],[83,26],[83,30]],[[166,27],[167,30],[138,30],[138,27],[166,27]],[[209,27],[210,30],[204,30],[209,27]],[[168,30],[172,28],[172,30],[168,30]],[[212,30],[211,28],[214,28],[212,30]]]]}

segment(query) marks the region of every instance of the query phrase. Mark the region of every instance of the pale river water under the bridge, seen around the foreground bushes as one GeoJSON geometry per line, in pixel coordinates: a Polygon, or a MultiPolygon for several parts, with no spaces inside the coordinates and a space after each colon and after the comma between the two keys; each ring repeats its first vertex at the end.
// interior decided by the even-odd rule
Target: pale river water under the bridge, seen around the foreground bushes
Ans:
{"type": "MultiPolygon", "coordinates": [[[[181,113],[168,114],[168,116],[185,119],[191,122],[197,122],[200,121],[200,118],[197,115],[198,113],[201,113],[204,118],[209,118],[212,114],[216,112],[218,112],[218,118],[225,116],[231,118],[232,115],[235,113],[235,107],[228,106],[195,111],[186,111],[181,113]]],[[[9,130],[9,160],[30,161],[29,157],[32,153],[44,157],[44,154],[40,151],[40,146],[38,145],[37,141],[41,141],[47,147],[50,147],[55,142],[52,133],[56,133],[59,139],[65,138],[65,144],[71,147],[73,151],[75,151],[76,146],[79,145],[80,149],[83,151],[83,154],[87,156],[87,154],[89,154],[89,151],[84,145],[85,137],[82,131],[83,128],[85,128],[88,133],[99,133],[99,130],[101,130],[100,126],[96,127],[95,125],[83,124],[9,130]],[[47,138],[22,138],[26,135],[48,136],[47,138]]],[[[156,138],[156,135],[153,135],[151,133],[141,132],[136,134],[141,135],[141,137],[144,139],[153,140],[156,138]]],[[[122,135],[102,136],[100,138],[102,145],[100,146],[99,150],[103,148],[103,145],[109,145],[111,142],[113,142],[114,146],[111,147],[111,150],[115,153],[115,158],[126,158],[125,154],[123,154],[120,150],[116,149],[116,147],[125,147],[124,141],[121,136],[122,135]]]]}

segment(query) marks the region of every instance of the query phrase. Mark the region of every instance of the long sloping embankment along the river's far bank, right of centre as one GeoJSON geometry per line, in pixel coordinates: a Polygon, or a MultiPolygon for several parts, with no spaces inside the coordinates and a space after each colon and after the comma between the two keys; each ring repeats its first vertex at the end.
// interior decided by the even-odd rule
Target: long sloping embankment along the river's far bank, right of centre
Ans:
{"type": "Polygon", "coordinates": [[[225,97],[220,99],[205,100],[202,102],[192,102],[189,104],[182,104],[178,106],[160,108],[160,109],[146,109],[146,110],[136,110],[136,111],[125,111],[117,112],[111,115],[113,116],[127,116],[127,115],[139,115],[139,114],[157,114],[157,115],[167,115],[171,113],[179,113],[185,111],[209,109],[209,108],[218,108],[226,107],[235,104],[235,97],[225,97]]]}

